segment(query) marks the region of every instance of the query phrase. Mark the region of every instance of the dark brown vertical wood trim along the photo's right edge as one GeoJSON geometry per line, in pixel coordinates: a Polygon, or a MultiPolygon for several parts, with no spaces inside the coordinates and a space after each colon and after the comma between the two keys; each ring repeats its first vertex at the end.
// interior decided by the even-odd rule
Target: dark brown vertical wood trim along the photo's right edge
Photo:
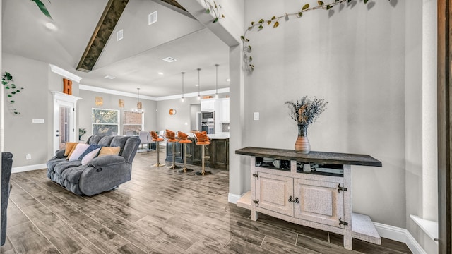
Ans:
{"type": "Polygon", "coordinates": [[[438,0],[438,224],[439,254],[451,246],[451,4],[438,0]]]}

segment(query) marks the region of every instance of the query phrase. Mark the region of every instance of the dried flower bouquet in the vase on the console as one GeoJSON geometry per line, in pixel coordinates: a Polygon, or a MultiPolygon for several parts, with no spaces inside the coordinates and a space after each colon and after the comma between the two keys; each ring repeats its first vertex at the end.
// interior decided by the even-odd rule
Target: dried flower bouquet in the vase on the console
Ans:
{"type": "Polygon", "coordinates": [[[297,102],[285,102],[289,107],[289,116],[292,117],[298,124],[307,124],[310,125],[314,123],[320,116],[323,111],[326,109],[325,99],[310,99],[307,96],[304,96],[301,100],[297,100],[297,102]]]}

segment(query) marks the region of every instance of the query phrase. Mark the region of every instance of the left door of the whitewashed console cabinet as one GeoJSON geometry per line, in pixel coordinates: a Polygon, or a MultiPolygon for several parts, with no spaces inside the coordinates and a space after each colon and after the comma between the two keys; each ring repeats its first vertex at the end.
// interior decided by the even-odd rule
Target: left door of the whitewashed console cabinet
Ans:
{"type": "Polygon", "coordinates": [[[288,201],[291,195],[293,197],[292,178],[258,172],[256,179],[258,207],[293,216],[294,205],[288,201]]]}

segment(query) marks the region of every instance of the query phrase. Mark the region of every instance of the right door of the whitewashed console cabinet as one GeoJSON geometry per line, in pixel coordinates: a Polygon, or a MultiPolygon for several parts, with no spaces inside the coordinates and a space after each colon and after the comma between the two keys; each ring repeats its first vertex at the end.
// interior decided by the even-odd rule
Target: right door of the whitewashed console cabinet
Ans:
{"type": "Polygon", "coordinates": [[[344,195],[338,183],[294,179],[295,217],[339,227],[344,219],[344,195]]]}

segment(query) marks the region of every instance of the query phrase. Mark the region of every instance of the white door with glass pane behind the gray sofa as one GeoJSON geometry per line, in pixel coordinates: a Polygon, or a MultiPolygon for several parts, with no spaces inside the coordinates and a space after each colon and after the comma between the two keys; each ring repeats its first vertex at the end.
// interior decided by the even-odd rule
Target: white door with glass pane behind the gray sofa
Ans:
{"type": "Polygon", "coordinates": [[[76,142],[76,103],[80,99],[62,92],[54,95],[54,151],[64,148],[66,142],[76,142]]]}

